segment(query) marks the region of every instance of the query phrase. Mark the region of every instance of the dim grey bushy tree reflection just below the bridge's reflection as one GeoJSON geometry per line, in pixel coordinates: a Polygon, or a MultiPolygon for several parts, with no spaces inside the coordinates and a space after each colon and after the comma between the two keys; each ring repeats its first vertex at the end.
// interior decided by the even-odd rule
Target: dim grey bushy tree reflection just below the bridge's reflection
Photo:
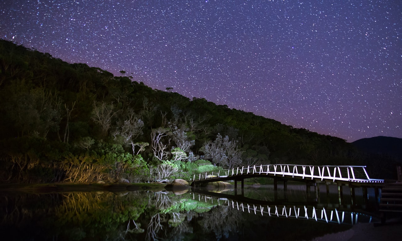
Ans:
{"type": "Polygon", "coordinates": [[[204,230],[211,230],[219,240],[222,236],[229,237],[234,233],[239,223],[244,222],[242,213],[228,206],[217,206],[209,212],[200,214],[203,219],[199,221],[204,230]]]}

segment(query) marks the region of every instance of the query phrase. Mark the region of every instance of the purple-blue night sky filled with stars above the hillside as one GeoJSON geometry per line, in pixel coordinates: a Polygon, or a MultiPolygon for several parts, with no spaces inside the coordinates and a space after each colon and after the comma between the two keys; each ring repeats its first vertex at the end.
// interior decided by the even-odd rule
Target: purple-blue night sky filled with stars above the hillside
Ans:
{"type": "Polygon", "coordinates": [[[0,0],[0,38],[349,142],[402,138],[400,0],[0,0]]]}

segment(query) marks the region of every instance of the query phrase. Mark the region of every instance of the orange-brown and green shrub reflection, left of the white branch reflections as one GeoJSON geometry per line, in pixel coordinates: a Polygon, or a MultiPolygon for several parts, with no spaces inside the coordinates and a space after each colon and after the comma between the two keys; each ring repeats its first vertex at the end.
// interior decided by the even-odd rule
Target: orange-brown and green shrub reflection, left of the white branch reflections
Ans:
{"type": "Polygon", "coordinates": [[[63,204],[56,209],[56,225],[62,228],[62,234],[67,237],[77,231],[76,227],[80,227],[82,237],[111,238],[141,233],[140,225],[135,221],[144,212],[146,201],[136,192],[125,196],[111,192],[69,193],[64,195],[63,204]],[[135,228],[130,229],[127,221],[133,221],[135,228]]]}

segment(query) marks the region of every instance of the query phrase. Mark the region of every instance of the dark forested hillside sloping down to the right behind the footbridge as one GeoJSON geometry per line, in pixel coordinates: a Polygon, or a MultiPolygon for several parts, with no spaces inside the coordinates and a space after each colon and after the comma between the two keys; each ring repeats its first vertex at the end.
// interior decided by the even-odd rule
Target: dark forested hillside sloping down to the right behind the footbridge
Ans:
{"type": "Polygon", "coordinates": [[[121,73],[0,40],[0,181],[138,182],[238,165],[364,164],[343,139],[121,73]]]}

